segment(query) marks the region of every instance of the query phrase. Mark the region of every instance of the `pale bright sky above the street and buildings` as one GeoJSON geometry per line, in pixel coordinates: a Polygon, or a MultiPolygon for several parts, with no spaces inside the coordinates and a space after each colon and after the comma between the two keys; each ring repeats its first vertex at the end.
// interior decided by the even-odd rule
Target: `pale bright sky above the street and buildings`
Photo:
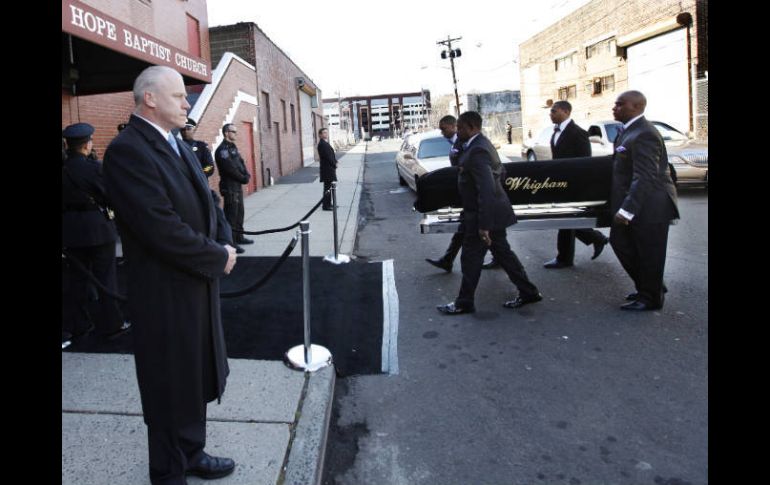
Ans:
{"type": "Polygon", "coordinates": [[[208,0],[209,26],[254,22],[324,98],[519,89],[518,46],[589,0],[208,0]],[[374,4],[374,5],[372,5],[374,4]],[[375,6],[377,5],[377,6],[375,6]],[[339,94],[338,94],[339,93],[339,94]]]}

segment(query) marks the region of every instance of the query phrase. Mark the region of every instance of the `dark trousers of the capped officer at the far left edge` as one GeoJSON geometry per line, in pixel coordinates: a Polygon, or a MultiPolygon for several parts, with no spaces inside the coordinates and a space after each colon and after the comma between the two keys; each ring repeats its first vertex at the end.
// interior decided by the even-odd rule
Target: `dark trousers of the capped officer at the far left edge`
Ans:
{"type": "MultiPolygon", "coordinates": [[[[115,243],[67,251],[113,293],[118,292],[115,243]]],[[[114,298],[99,292],[88,277],[71,265],[67,271],[62,298],[62,330],[72,335],[84,333],[93,323],[96,333],[109,335],[123,325],[123,312],[114,298]]]]}

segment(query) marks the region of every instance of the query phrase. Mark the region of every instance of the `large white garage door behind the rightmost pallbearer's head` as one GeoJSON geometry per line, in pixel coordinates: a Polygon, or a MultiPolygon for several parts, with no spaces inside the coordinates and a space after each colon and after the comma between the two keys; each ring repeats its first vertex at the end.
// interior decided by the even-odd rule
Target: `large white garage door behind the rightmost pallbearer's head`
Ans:
{"type": "Polygon", "coordinates": [[[687,132],[690,91],[687,78],[686,29],[628,47],[628,87],[647,97],[645,116],[687,132]]]}

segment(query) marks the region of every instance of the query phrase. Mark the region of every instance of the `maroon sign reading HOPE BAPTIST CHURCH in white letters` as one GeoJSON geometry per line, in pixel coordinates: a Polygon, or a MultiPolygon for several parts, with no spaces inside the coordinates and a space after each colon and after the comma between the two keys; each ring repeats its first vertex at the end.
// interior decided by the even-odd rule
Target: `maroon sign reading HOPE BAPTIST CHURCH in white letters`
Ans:
{"type": "Polygon", "coordinates": [[[205,59],[192,57],[77,0],[62,1],[62,31],[151,64],[172,67],[184,76],[211,82],[211,69],[205,59]]]}

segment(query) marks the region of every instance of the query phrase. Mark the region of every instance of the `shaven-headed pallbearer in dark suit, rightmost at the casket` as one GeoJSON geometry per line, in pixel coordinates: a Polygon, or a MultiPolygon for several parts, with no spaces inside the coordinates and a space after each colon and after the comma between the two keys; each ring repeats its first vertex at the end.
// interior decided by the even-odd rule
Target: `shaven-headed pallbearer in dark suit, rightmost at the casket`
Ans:
{"type": "Polygon", "coordinates": [[[626,91],[612,109],[623,131],[615,139],[610,244],[636,287],[626,297],[631,301],[621,306],[624,310],[663,307],[668,226],[679,218],[666,145],[643,116],[646,106],[642,93],[626,91]]]}

